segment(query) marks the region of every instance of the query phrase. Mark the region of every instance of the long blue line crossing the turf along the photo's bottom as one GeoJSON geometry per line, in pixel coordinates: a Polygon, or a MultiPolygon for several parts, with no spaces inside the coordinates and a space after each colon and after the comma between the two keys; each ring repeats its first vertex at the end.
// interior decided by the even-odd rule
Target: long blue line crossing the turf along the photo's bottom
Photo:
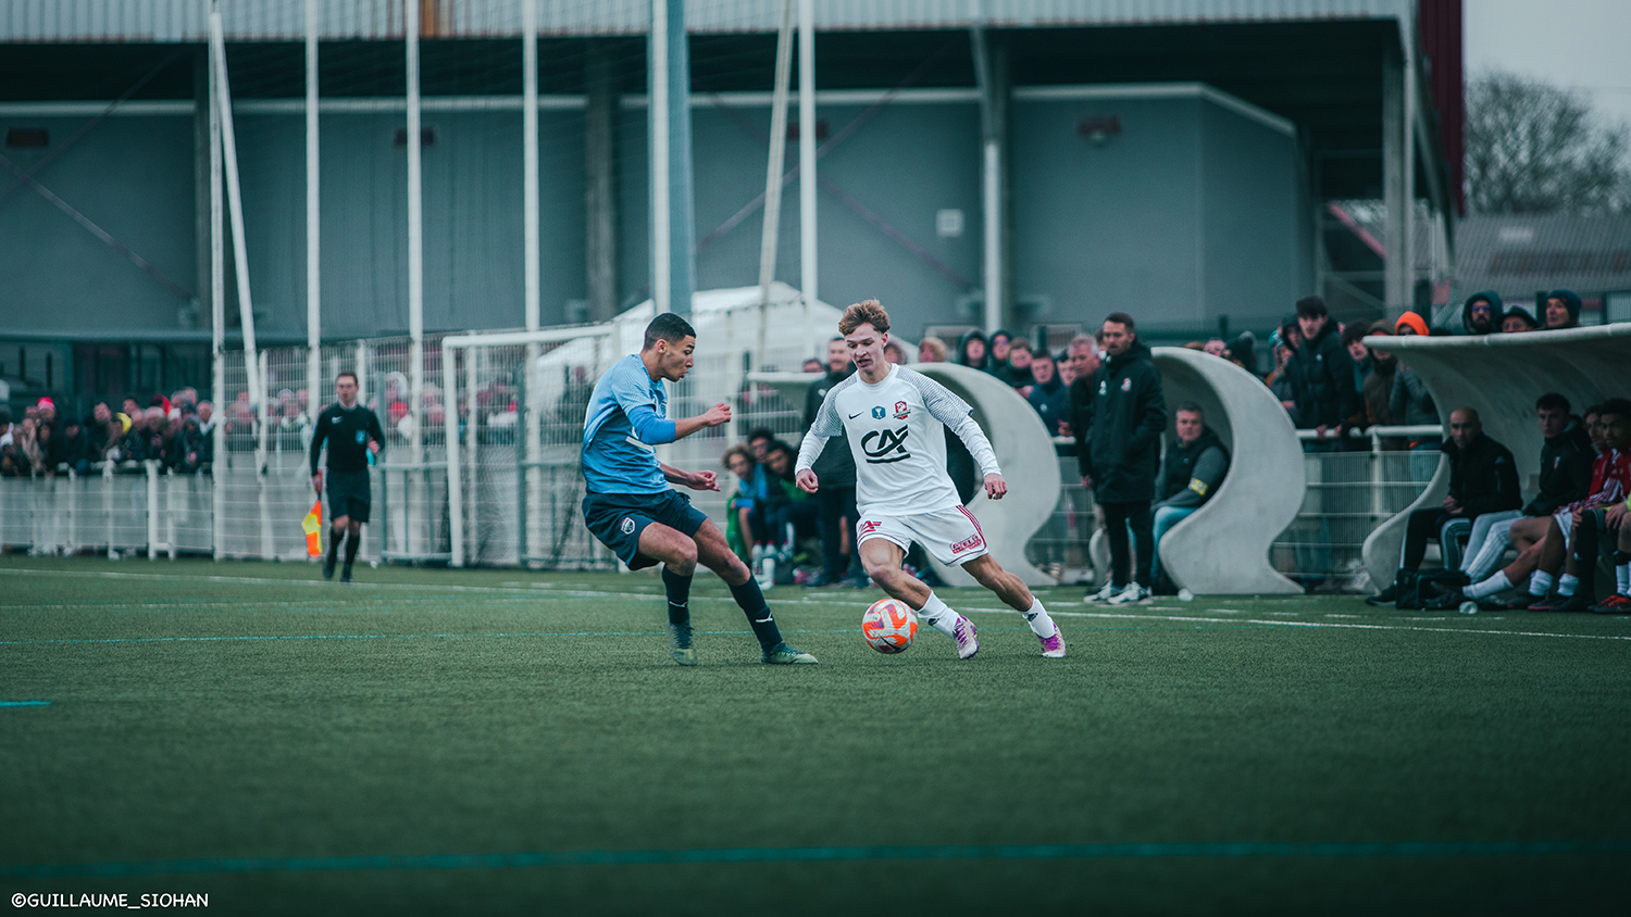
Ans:
{"type": "Polygon", "coordinates": [[[938,847],[736,847],[714,850],[561,850],[427,857],[238,857],[134,863],[0,865],[7,878],[109,878],[202,873],[341,873],[501,870],[517,867],[644,867],[692,863],[822,863],[869,860],[1112,860],[1112,858],[1359,858],[1628,855],[1624,840],[1395,840],[1368,844],[966,844],[938,847]]]}

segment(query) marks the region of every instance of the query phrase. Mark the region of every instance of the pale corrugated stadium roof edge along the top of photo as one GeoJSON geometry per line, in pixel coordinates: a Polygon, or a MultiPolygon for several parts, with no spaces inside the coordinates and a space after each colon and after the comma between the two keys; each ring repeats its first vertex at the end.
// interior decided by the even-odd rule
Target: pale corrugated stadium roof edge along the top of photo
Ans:
{"type": "MultiPolygon", "coordinates": [[[[538,5],[543,34],[641,34],[649,0],[576,0],[538,5]]],[[[768,0],[690,0],[693,33],[775,31],[768,0]]],[[[1284,23],[1414,18],[1412,0],[822,0],[825,31],[1284,23]]],[[[401,0],[323,0],[320,37],[385,39],[403,34],[401,0]]],[[[427,37],[506,37],[520,33],[520,0],[427,0],[427,37]]],[[[302,0],[222,0],[228,41],[292,41],[305,34],[302,0]]],[[[7,0],[3,42],[202,41],[204,0],[7,0]]]]}

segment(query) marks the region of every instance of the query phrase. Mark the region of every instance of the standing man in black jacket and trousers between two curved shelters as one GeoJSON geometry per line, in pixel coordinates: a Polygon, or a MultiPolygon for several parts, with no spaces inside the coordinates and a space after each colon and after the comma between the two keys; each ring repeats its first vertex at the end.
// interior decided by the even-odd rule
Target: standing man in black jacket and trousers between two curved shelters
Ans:
{"type": "Polygon", "coordinates": [[[1150,349],[1138,340],[1132,316],[1111,313],[1104,319],[1104,350],[1109,358],[1093,375],[1091,388],[1076,386],[1081,401],[1073,407],[1076,464],[1081,485],[1104,510],[1104,534],[1111,542],[1111,577],[1086,598],[1090,603],[1140,604],[1150,601],[1155,581],[1155,534],[1150,500],[1166,430],[1166,399],[1161,373],[1150,360],[1150,349]],[[1127,529],[1138,551],[1138,575],[1130,572],[1127,529]]]}

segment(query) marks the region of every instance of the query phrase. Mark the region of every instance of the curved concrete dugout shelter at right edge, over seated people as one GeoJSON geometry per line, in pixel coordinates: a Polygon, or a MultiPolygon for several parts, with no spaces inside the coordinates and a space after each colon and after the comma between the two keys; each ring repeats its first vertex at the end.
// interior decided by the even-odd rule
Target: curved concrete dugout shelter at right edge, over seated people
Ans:
{"type": "MultiPolygon", "coordinates": [[[[1536,397],[1562,393],[1579,414],[1605,397],[1631,396],[1631,322],[1479,337],[1380,336],[1365,345],[1398,355],[1427,383],[1440,422],[1456,407],[1478,410],[1484,433],[1512,450],[1525,490],[1540,472],[1536,397]]],[[[1440,466],[1414,503],[1365,539],[1365,568],[1378,588],[1399,567],[1409,515],[1442,503],[1448,487],[1450,471],[1440,466]]]]}

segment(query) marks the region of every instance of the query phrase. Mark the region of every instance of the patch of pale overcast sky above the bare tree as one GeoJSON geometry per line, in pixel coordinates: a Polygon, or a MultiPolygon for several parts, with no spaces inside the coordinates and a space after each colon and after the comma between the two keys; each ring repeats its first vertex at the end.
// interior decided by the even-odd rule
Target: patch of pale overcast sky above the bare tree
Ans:
{"type": "Polygon", "coordinates": [[[1466,0],[1466,72],[1494,67],[1585,90],[1631,124],[1631,2],[1466,0]]]}

